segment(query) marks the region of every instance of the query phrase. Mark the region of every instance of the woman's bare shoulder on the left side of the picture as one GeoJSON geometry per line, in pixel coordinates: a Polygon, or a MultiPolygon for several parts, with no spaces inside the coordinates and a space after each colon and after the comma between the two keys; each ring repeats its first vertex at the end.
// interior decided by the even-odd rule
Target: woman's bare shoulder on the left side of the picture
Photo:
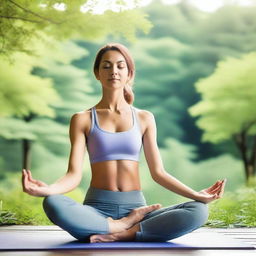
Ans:
{"type": "Polygon", "coordinates": [[[76,112],[70,119],[70,127],[88,134],[91,126],[91,109],[76,112]]]}

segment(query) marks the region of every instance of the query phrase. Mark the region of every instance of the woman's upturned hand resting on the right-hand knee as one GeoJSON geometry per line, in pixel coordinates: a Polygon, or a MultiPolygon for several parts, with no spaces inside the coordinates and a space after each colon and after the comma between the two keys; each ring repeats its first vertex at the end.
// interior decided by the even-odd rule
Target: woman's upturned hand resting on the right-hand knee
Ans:
{"type": "Polygon", "coordinates": [[[203,189],[197,192],[197,200],[203,203],[210,203],[216,199],[219,199],[223,196],[224,188],[227,180],[218,180],[215,184],[209,188],[203,189]]]}

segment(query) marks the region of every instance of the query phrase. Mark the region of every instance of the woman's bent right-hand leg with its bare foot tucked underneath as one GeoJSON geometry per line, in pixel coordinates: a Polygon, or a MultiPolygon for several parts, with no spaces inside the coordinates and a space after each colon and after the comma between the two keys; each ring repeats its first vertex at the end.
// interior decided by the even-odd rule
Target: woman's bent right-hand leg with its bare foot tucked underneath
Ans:
{"type": "Polygon", "coordinates": [[[189,233],[202,226],[208,218],[208,207],[201,202],[187,202],[162,208],[149,215],[127,230],[112,234],[96,234],[90,237],[91,243],[134,241],[167,241],[189,233]],[[143,227],[143,232],[141,231],[143,227]]]}

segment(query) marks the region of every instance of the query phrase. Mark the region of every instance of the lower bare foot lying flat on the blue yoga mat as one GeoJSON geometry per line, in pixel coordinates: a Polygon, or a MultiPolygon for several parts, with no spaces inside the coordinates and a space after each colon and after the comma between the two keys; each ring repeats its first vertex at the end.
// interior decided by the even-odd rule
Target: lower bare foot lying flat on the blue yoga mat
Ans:
{"type": "Polygon", "coordinates": [[[139,231],[139,225],[135,225],[129,230],[124,230],[122,232],[117,232],[113,234],[99,234],[90,236],[91,243],[106,243],[115,241],[133,241],[135,239],[135,234],[139,231]]]}

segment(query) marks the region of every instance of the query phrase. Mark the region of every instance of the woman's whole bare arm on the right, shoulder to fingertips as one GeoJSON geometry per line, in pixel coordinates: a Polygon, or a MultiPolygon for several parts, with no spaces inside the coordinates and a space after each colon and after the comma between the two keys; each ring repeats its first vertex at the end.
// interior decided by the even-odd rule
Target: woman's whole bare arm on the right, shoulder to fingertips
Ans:
{"type": "Polygon", "coordinates": [[[217,181],[209,188],[197,192],[165,171],[157,146],[157,129],[154,115],[149,111],[143,111],[143,116],[145,124],[143,148],[153,180],[179,195],[204,203],[220,198],[224,193],[226,179],[217,181]]]}

